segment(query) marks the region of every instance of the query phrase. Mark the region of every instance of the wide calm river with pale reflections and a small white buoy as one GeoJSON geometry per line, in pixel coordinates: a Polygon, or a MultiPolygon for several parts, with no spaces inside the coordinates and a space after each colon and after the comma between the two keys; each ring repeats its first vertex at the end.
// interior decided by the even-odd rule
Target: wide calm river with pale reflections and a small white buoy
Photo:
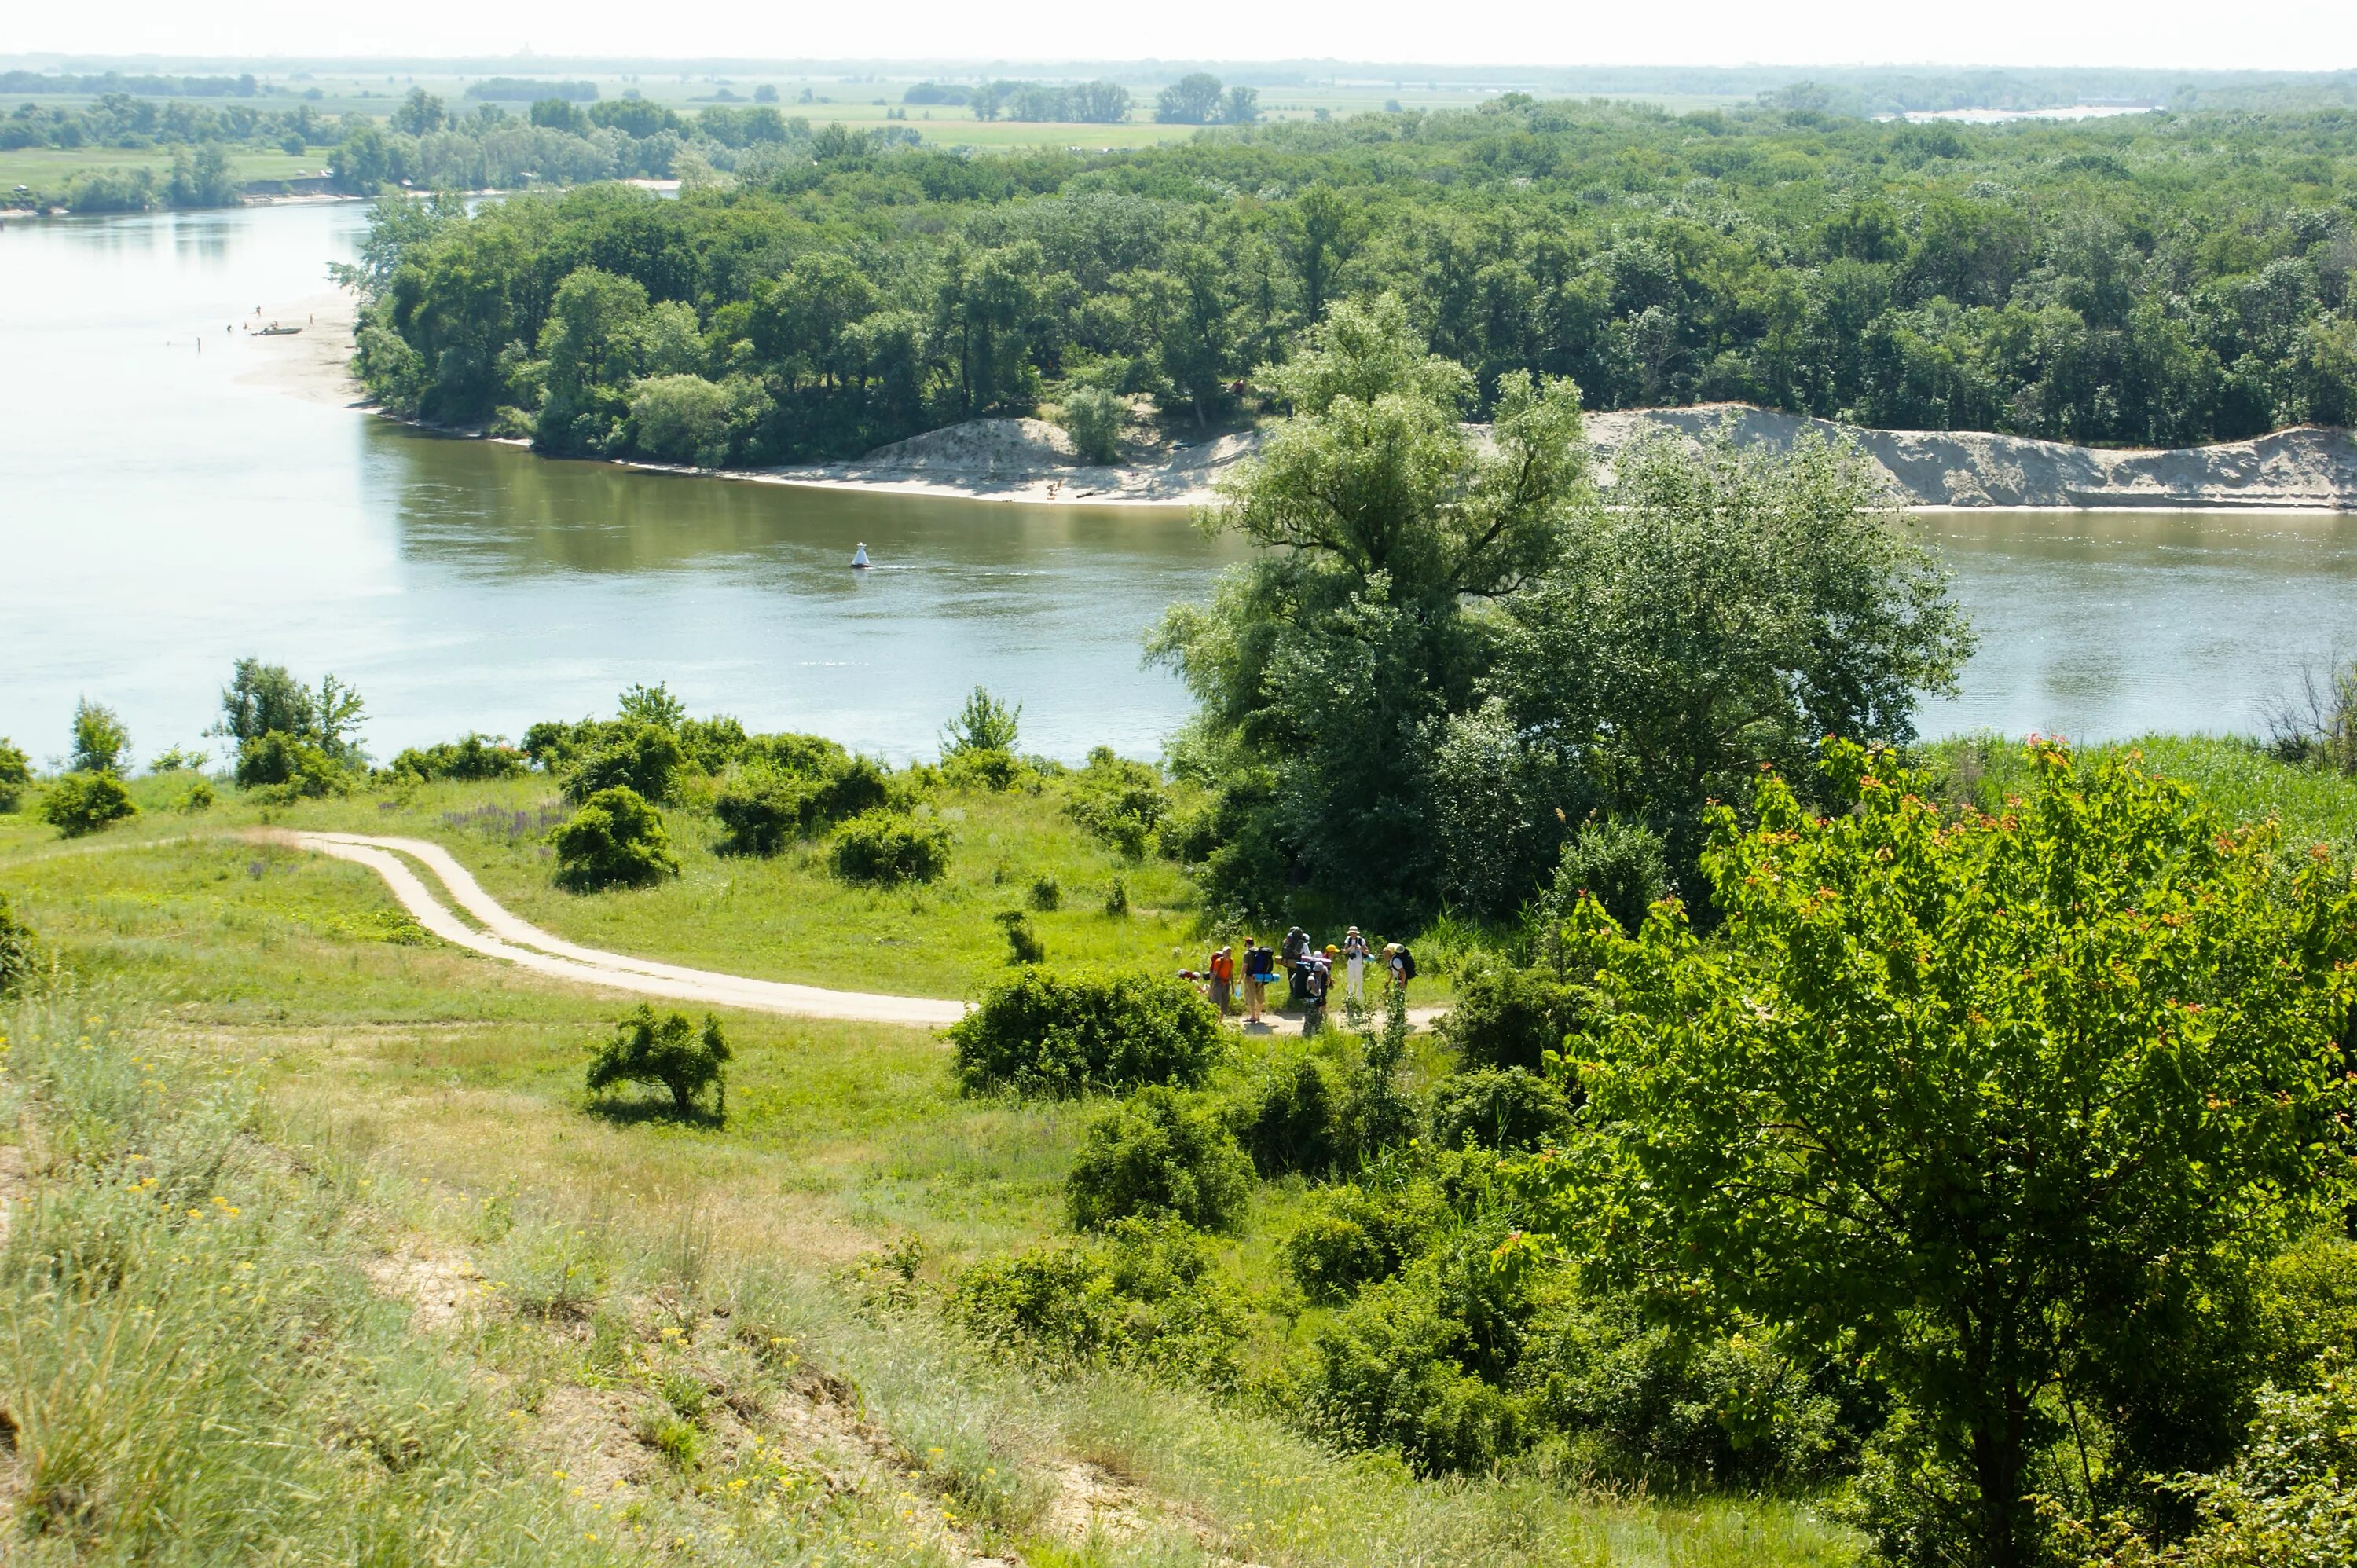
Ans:
{"type": "MultiPolygon", "coordinates": [[[[377,755],[691,710],[929,755],[973,686],[1028,747],[1153,755],[1186,693],[1138,641],[1233,542],[1181,512],[629,474],[384,424],[262,375],[224,325],[325,290],[358,203],[0,224],[0,736],[75,696],[196,743],[257,653],[368,696],[377,755]],[[205,347],[198,349],[198,337],[205,347]],[[851,573],[865,542],[879,571],[851,573]]],[[[2249,731],[2357,651],[2357,519],[1935,514],[1980,653],[1930,733],[2249,731]]]]}

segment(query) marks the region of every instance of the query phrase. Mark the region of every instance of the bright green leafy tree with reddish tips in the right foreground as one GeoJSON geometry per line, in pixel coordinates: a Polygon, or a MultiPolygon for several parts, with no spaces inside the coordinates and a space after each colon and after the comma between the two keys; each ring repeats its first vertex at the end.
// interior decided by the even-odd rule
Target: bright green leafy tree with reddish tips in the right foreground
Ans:
{"type": "Polygon", "coordinates": [[[1586,910],[1619,1009],[1591,1137],[1539,1188],[1600,1276],[1864,1356],[1978,1561],[2032,1561],[2036,1455],[2100,1410],[2114,1462],[2232,1448],[2258,1271],[2350,1198],[2357,887],[2277,870],[2133,759],[2034,743],[2003,816],[1942,816],[1829,743],[1817,816],[1770,776],[1711,816],[1714,946],[1586,910]]]}

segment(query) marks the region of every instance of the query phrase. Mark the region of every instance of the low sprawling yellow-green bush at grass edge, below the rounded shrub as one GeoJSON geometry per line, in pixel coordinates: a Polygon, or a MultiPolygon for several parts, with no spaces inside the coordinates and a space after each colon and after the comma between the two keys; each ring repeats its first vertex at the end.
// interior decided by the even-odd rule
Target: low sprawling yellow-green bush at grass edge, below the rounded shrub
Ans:
{"type": "Polygon", "coordinates": [[[976,1264],[950,1285],[948,1311],[1002,1351],[1058,1365],[1127,1365],[1190,1384],[1237,1375],[1249,1320],[1202,1238],[1176,1219],[1124,1219],[1101,1240],[976,1264]]]}

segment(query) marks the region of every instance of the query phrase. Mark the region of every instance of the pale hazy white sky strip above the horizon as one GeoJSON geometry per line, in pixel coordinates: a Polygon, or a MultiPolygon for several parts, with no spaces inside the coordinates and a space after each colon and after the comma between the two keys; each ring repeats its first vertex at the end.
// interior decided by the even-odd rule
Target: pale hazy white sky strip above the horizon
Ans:
{"type": "Polygon", "coordinates": [[[2357,2],[2260,0],[94,0],[9,5],[0,54],[632,54],[867,59],[1285,59],[1433,64],[2003,64],[2331,71],[2357,2]]]}

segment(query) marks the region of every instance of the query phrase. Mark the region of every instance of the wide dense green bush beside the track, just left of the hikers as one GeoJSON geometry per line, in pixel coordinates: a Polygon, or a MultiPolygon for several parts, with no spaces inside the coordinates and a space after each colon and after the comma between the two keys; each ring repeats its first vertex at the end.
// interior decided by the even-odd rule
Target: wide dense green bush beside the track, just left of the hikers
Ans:
{"type": "Polygon", "coordinates": [[[950,1026],[969,1092],[1070,1099],[1136,1085],[1195,1087],[1219,1061],[1219,1014],[1178,976],[1021,969],[950,1026]]]}

